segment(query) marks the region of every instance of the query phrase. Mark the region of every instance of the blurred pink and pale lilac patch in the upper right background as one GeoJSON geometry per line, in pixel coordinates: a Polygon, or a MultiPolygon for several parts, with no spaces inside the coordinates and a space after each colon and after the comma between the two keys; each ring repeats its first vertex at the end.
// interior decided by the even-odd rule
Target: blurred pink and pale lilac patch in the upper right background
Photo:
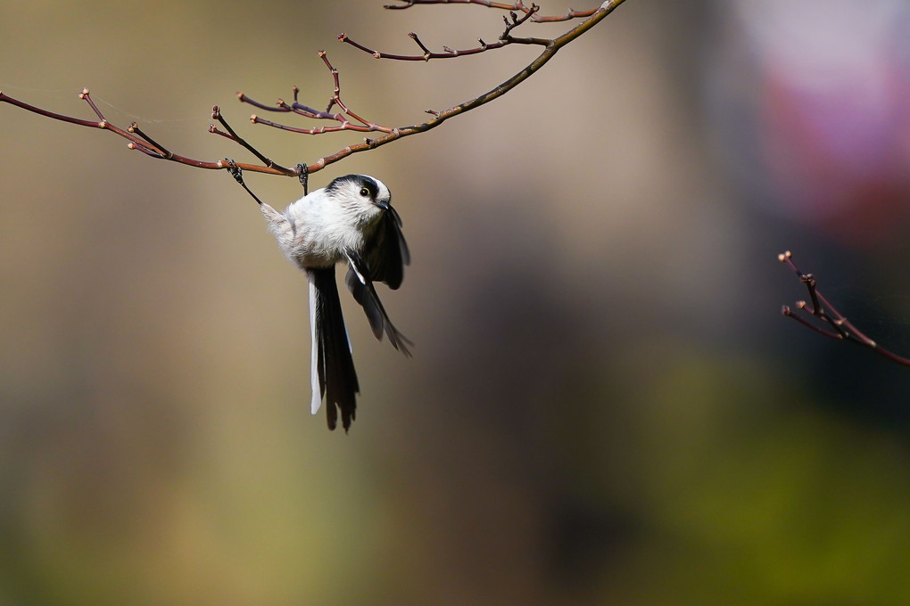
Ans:
{"type": "Polygon", "coordinates": [[[767,172],[781,210],[859,248],[905,239],[905,3],[731,4],[734,44],[751,56],[757,78],[751,103],[764,167],[756,168],[767,172]]]}

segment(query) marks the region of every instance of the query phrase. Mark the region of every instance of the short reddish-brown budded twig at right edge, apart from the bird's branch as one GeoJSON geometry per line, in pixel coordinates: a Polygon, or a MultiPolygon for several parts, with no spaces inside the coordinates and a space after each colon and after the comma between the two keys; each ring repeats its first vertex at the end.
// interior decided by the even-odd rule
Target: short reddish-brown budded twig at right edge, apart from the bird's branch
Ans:
{"type": "Polygon", "coordinates": [[[781,263],[786,263],[787,266],[799,276],[800,282],[805,284],[805,287],[809,292],[810,301],[810,303],[804,301],[796,302],[797,310],[804,312],[807,317],[798,315],[787,305],[784,305],[781,309],[781,313],[829,339],[856,343],[857,345],[862,345],[863,347],[873,350],[875,353],[884,356],[891,362],[910,366],[910,359],[889,352],[884,347],[881,347],[864,333],[861,333],[852,322],[844,317],[844,314],[838,312],[834,305],[824,297],[824,294],[818,291],[818,283],[816,283],[814,275],[812,273],[803,273],[796,267],[793,262],[793,255],[790,251],[777,255],[777,259],[781,263]],[[807,318],[814,319],[816,322],[812,323],[807,318]],[[830,326],[834,330],[825,330],[824,326],[830,326]]]}

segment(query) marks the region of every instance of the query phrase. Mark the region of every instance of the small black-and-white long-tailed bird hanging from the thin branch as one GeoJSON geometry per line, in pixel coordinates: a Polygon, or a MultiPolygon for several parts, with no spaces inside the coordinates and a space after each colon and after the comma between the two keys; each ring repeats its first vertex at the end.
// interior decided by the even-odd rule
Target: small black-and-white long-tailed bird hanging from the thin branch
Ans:
{"type": "Polygon", "coordinates": [[[324,396],[329,429],[335,429],[340,409],[347,432],[357,410],[359,384],[341,315],[336,263],[348,263],[345,283],[367,314],[376,338],[381,341],[382,334],[387,334],[389,343],[409,357],[408,345],[413,344],[391,323],[373,286],[383,282],[397,289],[404,266],[410,263],[401,217],[391,207],[389,188],[365,174],[349,174],[307,194],[306,166],[300,165],[304,196],[279,213],[249,191],[236,164],[228,164],[230,173],[258,202],[281,251],[307,274],[312,337],[310,410],[316,414],[324,396]]]}

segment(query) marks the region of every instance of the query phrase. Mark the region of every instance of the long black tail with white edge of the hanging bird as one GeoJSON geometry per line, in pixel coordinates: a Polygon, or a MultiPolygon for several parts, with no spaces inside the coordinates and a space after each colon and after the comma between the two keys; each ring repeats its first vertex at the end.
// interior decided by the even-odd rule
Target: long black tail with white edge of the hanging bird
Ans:
{"type": "Polygon", "coordinates": [[[340,409],[341,424],[347,432],[355,418],[360,388],[341,313],[335,266],[308,269],[307,279],[309,330],[313,343],[310,375],[313,399],[310,411],[316,414],[325,396],[329,429],[335,429],[340,409]]]}

